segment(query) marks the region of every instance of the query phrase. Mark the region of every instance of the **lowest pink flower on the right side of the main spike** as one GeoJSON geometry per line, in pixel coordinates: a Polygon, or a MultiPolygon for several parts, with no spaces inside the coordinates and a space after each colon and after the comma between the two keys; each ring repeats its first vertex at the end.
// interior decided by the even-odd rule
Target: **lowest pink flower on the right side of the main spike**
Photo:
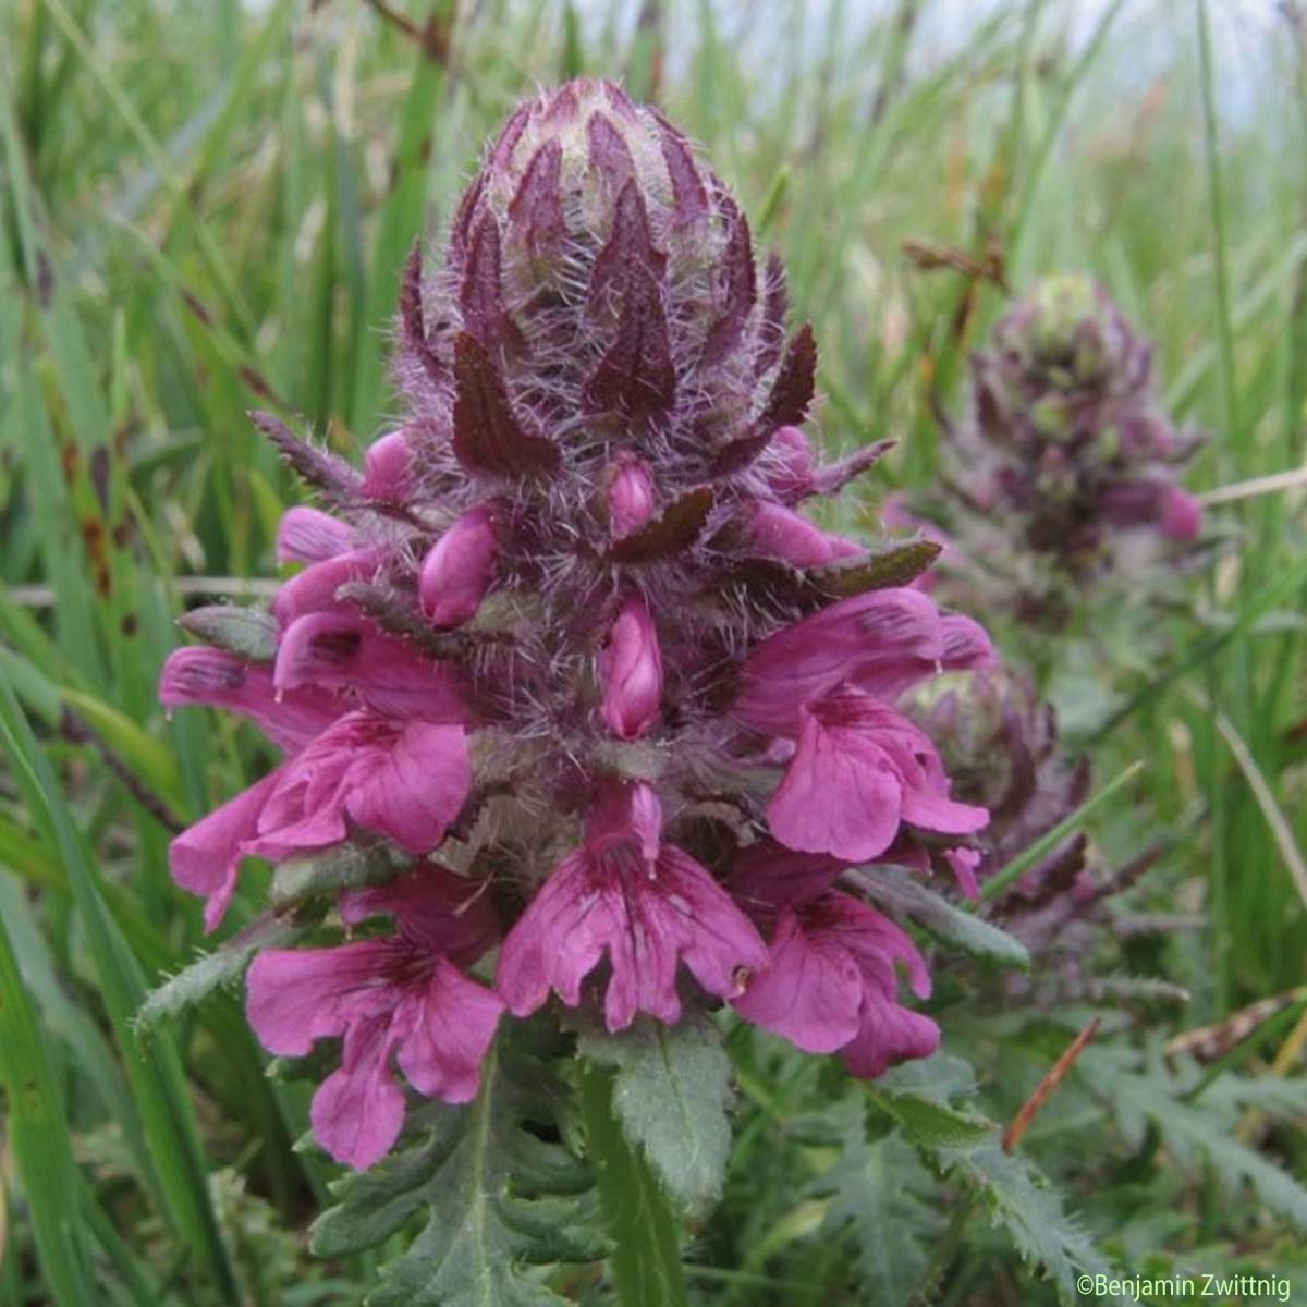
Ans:
{"type": "Polygon", "coordinates": [[[830,890],[779,910],[770,961],[733,1006],[805,1052],[839,1052],[855,1076],[880,1076],[940,1046],[938,1026],[898,1001],[899,962],[912,992],[929,997],[912,941],[874,908],[830,890]]]}

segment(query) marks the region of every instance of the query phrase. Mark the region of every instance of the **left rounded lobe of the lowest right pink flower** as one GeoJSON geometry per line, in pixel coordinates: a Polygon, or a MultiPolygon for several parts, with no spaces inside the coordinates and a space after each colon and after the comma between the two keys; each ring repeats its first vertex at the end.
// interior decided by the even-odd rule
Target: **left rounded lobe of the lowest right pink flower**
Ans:
{"type": "Polygon", "coordinates": [[[809,1053],[843,1048],[859,1031],[863,979],[838,940],[802,933],[793,911],[782,914],[771,959],[735,1000],[746,1021],[809,1053]]]}

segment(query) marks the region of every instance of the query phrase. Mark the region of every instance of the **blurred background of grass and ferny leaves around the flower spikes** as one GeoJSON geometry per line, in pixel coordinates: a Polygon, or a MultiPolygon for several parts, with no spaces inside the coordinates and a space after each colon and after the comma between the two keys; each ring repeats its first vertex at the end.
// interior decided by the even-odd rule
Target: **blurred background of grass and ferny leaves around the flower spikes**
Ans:
{"type": "MultiPolygon", "coordinates": [[[[1155,344],[1167,413],[1209,433],[1185,472],[1209,566],[1144,635],[1059,637],[1059,748],[1106,788],[1005,850],[1023,874],[1085,827],[1111,874],[1146,853],[1129,919],[1187,928],[1114,911],[1077,951],[1093,983],[1035,1001],[1060,974],[1036,950],[1029,992],[985,1005],[983,958],[1010,953],[950,908],[936,929],[982,962],[941,975],[946,1056],[870,1091],[732,1027],[735,1141],[721,1204],[681,1240],[689,1299],[1055,1300],[1108,1263],[1307,1293],[1307,14],[1210,8],[10,0],[0,1298],[314,1303],[376,1282],[383,1253],[307,1251],[337,1171],[293,1149],[308,1086],[264,1078],[239,989],[214,967],[203,1004],[137,1018],[201,948],[170,834],[269,765],[243,727],[165,721],[156,680],[184,608],[272,572],[299,493],[246,410],[357,456],[391,412],[414,235],[447,222],[514,102],[584,72],[664,103],[784,256],[830,451],[898,442],[830,525],[877,537],[885,495],[929,484],[968,352],[1051,272],[1111,294],[1155,344]],[[1004,1151],[989,1123],[1094,1018],[1004,1151]]],[[[248,916],[238,898],[230,929],[248,916]]],[[[548,1276],[613,1300],[601,1268],[548,1276]]]]}

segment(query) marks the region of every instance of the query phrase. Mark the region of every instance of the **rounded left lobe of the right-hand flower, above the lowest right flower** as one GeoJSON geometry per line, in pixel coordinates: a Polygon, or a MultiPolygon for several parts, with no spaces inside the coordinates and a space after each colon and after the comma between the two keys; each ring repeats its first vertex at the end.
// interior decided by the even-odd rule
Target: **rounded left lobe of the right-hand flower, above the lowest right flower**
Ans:
{"type": "Polygon", "coordinates": [[[873,733],[804,711],[767,825],[789,848],[865,863],[893,843],[902,802],[902,782],[873,733]]]}

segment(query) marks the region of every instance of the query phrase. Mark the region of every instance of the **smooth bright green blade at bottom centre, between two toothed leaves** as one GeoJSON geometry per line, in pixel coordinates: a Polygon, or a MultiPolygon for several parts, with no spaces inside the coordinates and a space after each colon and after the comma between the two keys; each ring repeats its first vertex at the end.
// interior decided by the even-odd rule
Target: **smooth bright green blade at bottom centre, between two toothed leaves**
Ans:
{"type": "Polygon", "coordinates": [[[599,1193],[613,1242],[620,1307],[685,1307],[676,1225],[654,1172],[623,1137],[614,1076],[591,1068],[582,1082],[586,1141],[599,1166],[599,1193]]]}

